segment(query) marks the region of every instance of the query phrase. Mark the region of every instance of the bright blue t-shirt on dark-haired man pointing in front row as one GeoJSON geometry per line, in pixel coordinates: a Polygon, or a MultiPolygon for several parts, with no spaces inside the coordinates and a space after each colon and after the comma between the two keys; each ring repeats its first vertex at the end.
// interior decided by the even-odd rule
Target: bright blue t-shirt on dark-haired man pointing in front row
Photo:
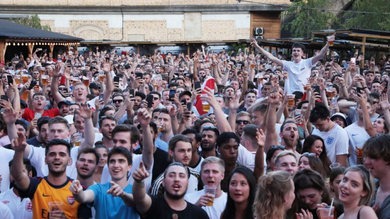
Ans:
{"type": "MultiPolygon", "coordinates": [[[[134,207],[127,206],[120,197],[107,194],[110,188],[110,183],[95,184],[88,188],[95,194],[95,201],[88,205],[88,207],[95,207],[95,219],[139,219],[139,214],[134,207]]],[[[129,184],[123,191],[132,193],[132,186],[129,184]]]]}

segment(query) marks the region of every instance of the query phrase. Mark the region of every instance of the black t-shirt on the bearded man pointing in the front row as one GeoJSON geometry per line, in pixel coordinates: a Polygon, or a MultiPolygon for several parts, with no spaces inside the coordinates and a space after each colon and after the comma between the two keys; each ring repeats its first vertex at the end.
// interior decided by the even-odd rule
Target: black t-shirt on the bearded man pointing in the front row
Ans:
{"type": "Polygon", "coordinates": [[[182,211],[173,210],[165,201],[164,196],[151,196],[152,205],[142,219],[208,219],[202,208],[187,202],[182,211]]]}

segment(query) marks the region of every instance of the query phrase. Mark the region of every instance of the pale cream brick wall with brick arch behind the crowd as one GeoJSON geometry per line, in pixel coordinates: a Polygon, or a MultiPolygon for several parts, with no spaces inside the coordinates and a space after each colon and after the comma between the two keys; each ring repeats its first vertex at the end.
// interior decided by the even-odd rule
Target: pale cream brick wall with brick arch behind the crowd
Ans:
{"type": "MultiPolygon", "coordinates": [[[[85,40],[113,41],[121,40],[122,28],[110,28],[105,20],[78,20],[69,21],[69,27],[55,27],[53,20],[41,20],[42,24],[51,26],[52,31],[81,37],[85,40]],[[75,34],[75,29],[85,24],[96,25],[104,30],[101,34],[98,31],[86,29],[75,34]]],[[[144,35],[146,42],[170,42],[170,41],[227,41],[238,39],[249,39],[251,31],[249,28],[235,28],[234,20],[206,20],[202,21],[202,39],[184,39],[184,23],[182,28],[167,28],[166,21],[126,21],[124,22],[124,39],[128,41],[129,34],[144,35]]]]}

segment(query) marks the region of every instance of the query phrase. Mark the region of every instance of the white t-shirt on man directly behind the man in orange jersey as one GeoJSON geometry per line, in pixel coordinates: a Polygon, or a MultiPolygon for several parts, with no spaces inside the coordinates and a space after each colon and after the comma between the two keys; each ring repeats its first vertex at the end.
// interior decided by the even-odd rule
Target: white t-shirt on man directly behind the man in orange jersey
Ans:
{"type": "MultiPolygon", "coordinates": [[[[38,177],[44,177],[49,175],[48,165],[45,164],[45,148],[34,147],[30,145],[30,154],[28,159],[31,161],[31,165],[37,170],[38,177]]],[[[66,175],[72,179],[77,179],[76,161],[78,155],[79,146],[72,147],[71,149],[71,164],[66,167],[66,175]]]]}

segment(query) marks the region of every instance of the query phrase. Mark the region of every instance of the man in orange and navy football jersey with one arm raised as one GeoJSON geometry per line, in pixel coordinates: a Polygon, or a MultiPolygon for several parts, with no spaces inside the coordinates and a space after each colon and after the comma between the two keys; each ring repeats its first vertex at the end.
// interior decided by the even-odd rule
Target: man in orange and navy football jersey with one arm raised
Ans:
{"type": "Polygon", "coordinates": [[[15,179],[20,197],[31,199],[32,218],[48,218],[49,215],[50,218],[89,218],[90,211],[75,201],[69,191],[73,180],[66,175],[66,168],[72,163],[70,144],[59,139],[50,141],[45,148],[45,163],[48,164],[49,175],[44,178],[29,178],[23,172],[26,138],[20,132],[17,135],[12,140],[15,154],[11,174],[15,179]],[[49,208],[49,202],[53,200],[65,203],[66,207],[53,211],[49,208]]]}

